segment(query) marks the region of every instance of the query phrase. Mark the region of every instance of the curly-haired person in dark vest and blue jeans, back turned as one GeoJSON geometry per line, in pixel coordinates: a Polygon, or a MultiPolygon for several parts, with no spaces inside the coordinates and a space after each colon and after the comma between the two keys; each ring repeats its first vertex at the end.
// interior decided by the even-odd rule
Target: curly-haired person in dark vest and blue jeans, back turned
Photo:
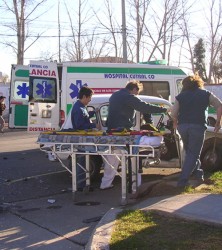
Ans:
{"type": "Polygon", "coordinates": [[[188,186],[192,173],[196,176],[196,179],[201,182],[204,181],[204,172],[200,168],[200,154],[207,128],[208,106],[211,105],[217,110],[215,132],[218,132],[221,128],[222,115],[221,101],[204,89],[204,82],[198,75],[184,78],[182,84],[182,91],[176,96],[171,112],[174,119],[174,128],[178,128],[185,151],[178,187],[188,186]]]}

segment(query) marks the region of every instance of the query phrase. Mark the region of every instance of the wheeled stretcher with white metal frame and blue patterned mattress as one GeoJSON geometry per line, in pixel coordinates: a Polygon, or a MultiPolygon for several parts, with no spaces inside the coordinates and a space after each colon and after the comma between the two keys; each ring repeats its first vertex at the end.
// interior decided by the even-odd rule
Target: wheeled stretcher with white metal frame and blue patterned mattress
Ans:
{"type": "MultiPolygon", "coordinates": [[[[51,152],[67,171],[72,175],[72,192],[75,197],[77,191],[77,156],[85,156],[85,166],[81,166],[86,173],[86,190],[90,187],[90,156],[102,157],[115,155],[121,161],[121,204],[127,203],[127,194],[135,193],[140,181],[138,178],[139,158],[143,158],[146,166],[160,162],[160,151],[164,147],[161,134],[155,136],[141,134],[112,134],[76,132],[42,132],[37,140],[42,151],[51,152]],[[150,144],[150,145],[149,145],[150,144]],[[118,150],[119,153],[115,153],[118,150]],[[115,151],[115,152],[114,152],[115,151]],[[71,169],[64,163],[64,159],[71,159],[71,169]],[[131,164],[128,161],[131,160],[131,164]]],[[[110,166],[113,167],[113,166],[110,166]]]]}

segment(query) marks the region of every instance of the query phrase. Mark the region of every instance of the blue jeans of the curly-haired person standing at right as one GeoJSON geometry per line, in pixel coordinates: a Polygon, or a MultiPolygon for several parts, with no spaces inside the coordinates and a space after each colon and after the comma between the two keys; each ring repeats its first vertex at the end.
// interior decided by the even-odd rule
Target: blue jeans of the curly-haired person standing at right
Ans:
{"type": "Polygon", "coordinates": [[[178,132],[181,135],[185,159],[182,166],[182,171],[178,181],[178,186],[184,187],[188,185],[189,177],[192,173],[196,178],[203,180],[204,173],[200,169],[200,154],[203,147],[206,128],[197,124],[180,124],[178,132]]]}

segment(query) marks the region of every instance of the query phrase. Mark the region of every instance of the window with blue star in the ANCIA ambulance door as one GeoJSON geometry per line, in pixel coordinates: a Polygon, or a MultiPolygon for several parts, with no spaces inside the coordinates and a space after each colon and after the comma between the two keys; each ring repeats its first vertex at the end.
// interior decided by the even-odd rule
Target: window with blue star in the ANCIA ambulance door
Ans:
{"type": "Polygon", "coordinates": [[[56,79],[30,78],[29,100],[34,102],[57,102],[56,79]]]}

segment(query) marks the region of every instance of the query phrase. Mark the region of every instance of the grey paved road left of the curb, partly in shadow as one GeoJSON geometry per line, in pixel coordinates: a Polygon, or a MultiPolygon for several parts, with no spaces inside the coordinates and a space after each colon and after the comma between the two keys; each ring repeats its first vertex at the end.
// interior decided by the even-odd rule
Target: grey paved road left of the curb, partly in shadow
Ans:
{"type": "Polygon", "coordinates": [[[83,249],[98,220],[120,205],[112,190],[71,192],[71,175],[49,162],[26,131],[0,135],[0,249],[83,249]]]}

